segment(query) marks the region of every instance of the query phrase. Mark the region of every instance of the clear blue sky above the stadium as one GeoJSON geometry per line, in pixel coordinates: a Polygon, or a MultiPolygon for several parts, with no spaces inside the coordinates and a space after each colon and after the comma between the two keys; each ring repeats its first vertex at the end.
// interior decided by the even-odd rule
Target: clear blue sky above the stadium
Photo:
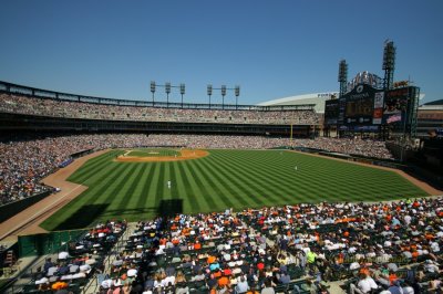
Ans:
{"type": "MultiPolygon", "coordinates": [[[[337,91],[338,64],[383,75],[383,42],[396,45],[394,80],[443,98],[443,1],[0,1],[0,80],[101,97],[148,99],[150,81],[241,86],[239,102],[337,91]],[[439,29],[440,28],[440,29],[439,29]]],[[[158,88],[156,99],[165,101],[158,88]]],[[[169,101],[181,99],[174,90],[169,101]]],[[[235,102],[234,91],[227,103],[235,102]]],[[[215,91],[213,102],[220,102],[215,91]]]]}

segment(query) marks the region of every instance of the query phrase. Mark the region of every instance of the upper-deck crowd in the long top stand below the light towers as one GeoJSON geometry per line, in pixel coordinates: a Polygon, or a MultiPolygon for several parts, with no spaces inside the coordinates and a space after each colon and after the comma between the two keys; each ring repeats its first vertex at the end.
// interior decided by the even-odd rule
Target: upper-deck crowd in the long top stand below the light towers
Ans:
{"type": "Polygon", "coordinates": [[[124,106],[0,94],[0,112],[106,120],[318,125],[313,111],[230,111],[124,106]]]}

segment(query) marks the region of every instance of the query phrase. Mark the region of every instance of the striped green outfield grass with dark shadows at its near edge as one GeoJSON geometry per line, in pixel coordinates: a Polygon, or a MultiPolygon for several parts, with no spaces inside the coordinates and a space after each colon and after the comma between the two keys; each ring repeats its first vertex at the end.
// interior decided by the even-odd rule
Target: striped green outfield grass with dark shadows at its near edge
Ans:
{"type": "Polygon", "coordinates": [[[195,213],[426,195],[393,171],[339,160],[280,150],[208,151],[204,158],[171,162],[113,161],[124,150],[93,158],[69,178],[90,188],[42,227],[66,230],[99,220],[137,221],[168,209],[195,213]]]}

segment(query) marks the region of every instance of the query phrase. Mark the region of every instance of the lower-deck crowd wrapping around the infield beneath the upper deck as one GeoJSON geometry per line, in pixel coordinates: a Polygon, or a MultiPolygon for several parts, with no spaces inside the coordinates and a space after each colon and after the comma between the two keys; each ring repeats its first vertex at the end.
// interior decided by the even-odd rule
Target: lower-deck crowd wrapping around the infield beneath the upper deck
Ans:
{"type": "Polygon", "coordinates": [[[295,139],[265,136],[128,135],[20,136],[0,140],[0,204],[44,191],[39,181],[83,150],[175,146],[186,148],[267,149],[282,146],[392,158],[382,141],[363,139],[295,139]]]}

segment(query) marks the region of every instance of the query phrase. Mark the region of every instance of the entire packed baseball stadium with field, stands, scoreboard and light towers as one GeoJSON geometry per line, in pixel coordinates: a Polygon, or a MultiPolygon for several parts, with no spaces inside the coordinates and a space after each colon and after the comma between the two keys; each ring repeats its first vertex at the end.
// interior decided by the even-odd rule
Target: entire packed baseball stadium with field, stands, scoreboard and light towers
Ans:
{"type": "Polygon", "coordinates": [[[395,52],[256,104],[0,81],[0,293],[443,293],[443,102],[395,52]]]}

